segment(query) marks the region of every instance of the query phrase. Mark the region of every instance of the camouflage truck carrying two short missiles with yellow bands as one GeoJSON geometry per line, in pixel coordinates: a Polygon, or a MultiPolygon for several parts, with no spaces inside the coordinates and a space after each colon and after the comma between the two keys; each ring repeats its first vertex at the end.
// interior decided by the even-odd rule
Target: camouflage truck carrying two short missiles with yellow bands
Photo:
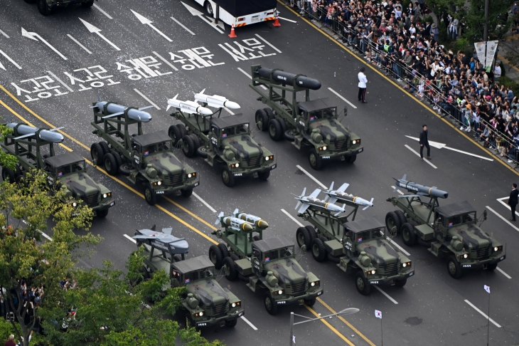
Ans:
{"type": "Polygon", "coordinates": [[[270,315],[276,315],[280,305],[312,306],[323,294],[319,278],[296,260],[293,241],[285,236],[263,239],[266,221],[235,210],[231,215],[220,213],[218,222],[223,229],[213,235],[225,243],[210,246],[210,261],[224,268],[229,281],[239,278],[252,292],[261,293],[270,315]]]}

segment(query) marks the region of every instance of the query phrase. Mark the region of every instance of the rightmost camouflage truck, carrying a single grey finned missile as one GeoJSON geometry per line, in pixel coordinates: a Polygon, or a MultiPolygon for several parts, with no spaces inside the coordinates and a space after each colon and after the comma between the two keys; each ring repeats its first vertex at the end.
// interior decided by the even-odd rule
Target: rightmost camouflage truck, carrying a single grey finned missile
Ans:
{"type": "Polygon", "coordinates": [[[410,194],[387,199],[400,209],[387,213],[387,231],[402,234],[407,246],[419,243],[434,256],[446,258],[451,277],[461,278],[466,269],[493,271],[506,258],[503,244],[479,228],[486,220],[486,211],[478,219],[467,201],[439,206],[438,199],[446,199],[447,192],[407,181],[406,175],[395,180],[395,191],[402,187],[410,194]]]}

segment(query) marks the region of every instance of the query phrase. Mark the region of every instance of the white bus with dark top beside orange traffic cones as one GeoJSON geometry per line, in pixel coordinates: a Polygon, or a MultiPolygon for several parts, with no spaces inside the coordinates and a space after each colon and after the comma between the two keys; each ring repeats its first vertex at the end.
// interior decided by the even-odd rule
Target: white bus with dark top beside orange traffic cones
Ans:
{"type": "Polygon", "coordinates": [[[213,18],[235,28],[262,21],[273,21],[276,0],[195,0],[213,18]]]}

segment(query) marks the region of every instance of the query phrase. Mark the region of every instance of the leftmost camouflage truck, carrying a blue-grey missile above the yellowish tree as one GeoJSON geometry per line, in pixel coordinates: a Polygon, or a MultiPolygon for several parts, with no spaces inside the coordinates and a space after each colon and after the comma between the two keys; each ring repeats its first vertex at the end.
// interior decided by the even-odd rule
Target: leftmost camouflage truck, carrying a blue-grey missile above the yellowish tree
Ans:
{"type": "Polygon", "coordinates": [[[47,184],[51,190],[65,190],[63,203],[72,206],[82,203],[90,206],[94,215],[103,218],[114,206],[112,192],[92,180],[87,174],[85,159],[75,152],[55,154],[54,144],[63,142],[64,137],[55,130],[38,129],[23,123],[8,123],[13,129],[11,135],[4,136],[1,148],[16,156],[18,164],[13,171],[2,167],[2,178],[11,183],[22,183],[31,169],[42,169],[47,174],[47,184]],[[42,154],[46,148],[47,154],[42,154]]]}

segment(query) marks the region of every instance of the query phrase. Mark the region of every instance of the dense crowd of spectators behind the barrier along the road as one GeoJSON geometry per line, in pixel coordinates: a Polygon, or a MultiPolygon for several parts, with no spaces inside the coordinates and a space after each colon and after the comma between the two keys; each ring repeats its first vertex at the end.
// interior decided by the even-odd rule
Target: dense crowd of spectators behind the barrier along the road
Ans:
{"type": "Polygon", "coordinates": [[[341,35],[346,46],[386,75],[405,82],[434,110],[454,117],[461,130],[509,162],[519,161],[519,100],[500,84],[499,61],[487,72],[475,49],[466,54],[439,43],[438,26],[445,26],[451,40],[458,38],[458,19],[442,14],[437,26],[425,17],[430,11],[423,0],[406,9],[401,0],[310,0],[294,6],[341,35]]]}

